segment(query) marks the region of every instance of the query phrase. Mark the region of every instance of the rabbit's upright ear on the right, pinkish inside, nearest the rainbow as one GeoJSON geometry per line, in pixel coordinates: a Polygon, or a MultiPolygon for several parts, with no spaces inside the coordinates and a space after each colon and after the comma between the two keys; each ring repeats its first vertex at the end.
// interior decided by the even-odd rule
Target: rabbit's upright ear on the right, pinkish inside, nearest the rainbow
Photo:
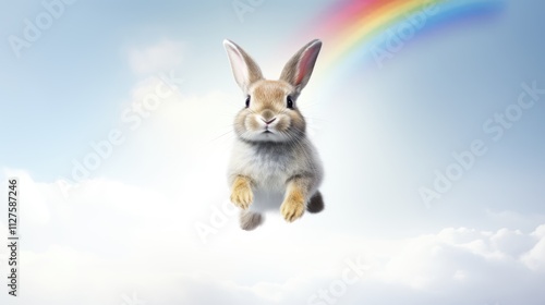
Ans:
{"type": "Polygon", "coordinates": [[[286,64],[280,75],[280,80],[293,85],[300,93],[311,80],[312,71],[318,58],[322,41],[314,39],[306,44],[286,64]]]}

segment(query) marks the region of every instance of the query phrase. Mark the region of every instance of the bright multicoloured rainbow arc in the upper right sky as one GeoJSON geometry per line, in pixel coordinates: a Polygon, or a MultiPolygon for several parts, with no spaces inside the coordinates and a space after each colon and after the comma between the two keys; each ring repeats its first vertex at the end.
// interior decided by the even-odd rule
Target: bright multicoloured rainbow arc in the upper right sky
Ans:
{"type": "Polygon", "coordinates": [[[320,60],[328,71],[340,63],[392,58],[425,32],[492,15],[504,4],[504,0],[344,0],[327,9],[304,32],[324,40],[326,52],[320,60]]]}

